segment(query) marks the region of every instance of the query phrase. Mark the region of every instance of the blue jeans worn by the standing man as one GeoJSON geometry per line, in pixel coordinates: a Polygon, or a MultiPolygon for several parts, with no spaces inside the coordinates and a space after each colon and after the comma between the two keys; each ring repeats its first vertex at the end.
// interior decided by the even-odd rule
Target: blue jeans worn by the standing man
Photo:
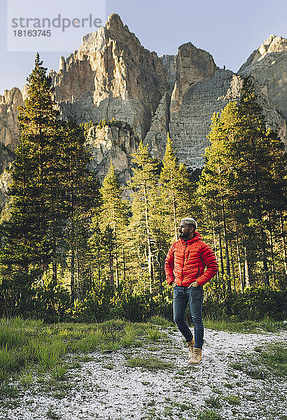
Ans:
{"type": "Polygon", "coordinates": [[[195,347],[202,349],[203,345],[203,322],[202,322],[203,287],[190,288],[186,286],[174,286],[174,322],[181,334],[189,342],[193,339],[193,333],[188,328],[185,320],[186,307],[190,307],[190,316],[195,327],[195,347]]]}

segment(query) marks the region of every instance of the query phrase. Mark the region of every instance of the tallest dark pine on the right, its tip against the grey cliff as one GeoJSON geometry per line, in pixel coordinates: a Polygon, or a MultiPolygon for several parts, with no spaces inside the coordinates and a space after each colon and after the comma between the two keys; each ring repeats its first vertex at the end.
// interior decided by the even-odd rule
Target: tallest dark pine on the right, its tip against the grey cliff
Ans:
{"type": "Polygon", "coordinates": [[[239,114],[241,136],[232,149],[237,156],[237,200],[244,207],[248,221],[241,223],[241,227],[249,242],[258,242],[258,259],[262,261],[263,281],[269,286],[268,208],[276,205],[283,194],[281,191],[275,202],[272,200],[272,191],[278,191],[278,179],[274,178],[274,172],[284,172],[283,145],[266,128],[251,78],[244,79],[239,114]]]}

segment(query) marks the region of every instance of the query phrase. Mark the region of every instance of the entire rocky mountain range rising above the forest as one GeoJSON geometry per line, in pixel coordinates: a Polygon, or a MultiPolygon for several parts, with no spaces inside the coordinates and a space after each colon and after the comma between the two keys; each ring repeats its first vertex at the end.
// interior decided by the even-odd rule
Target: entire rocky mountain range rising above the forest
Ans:
{"type": "MultiPolygon", "coordinates": [[[[139,139],[160,158],[167,132],[181,162],[191,169],[202,167],[211,116],[239,98],[246,75],[255,80],[268,125],[286,140],[286,68],[286,39],[280,36],[269,36],[236,74],[218,69],[209,52],[192,43],[181,45],[177,55],[158,57],[113,14],[104,27],[83,37],[78,50],[60,57],[59,70],[50,77],[62,118],[126,123],[92,127],[88,140],[99,178],[112,160],[125,183],[130,179],[130,153],[137,150],[139,139]]],[[[26,96],[27,87],[22,92],[15,87],[0,97],[2,171],[13,160],[17,107],[26,96]]]]}

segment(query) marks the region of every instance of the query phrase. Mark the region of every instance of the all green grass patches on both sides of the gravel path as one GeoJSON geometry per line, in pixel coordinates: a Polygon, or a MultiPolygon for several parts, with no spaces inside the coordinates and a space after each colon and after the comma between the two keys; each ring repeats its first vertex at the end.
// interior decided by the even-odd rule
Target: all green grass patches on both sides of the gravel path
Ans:
{"type": "MultiPolygon", "coordinates": [[[[245,323],[206,321],[205,325],[207,328],[218,330],[242,331],[244,328],[244,332],[258,332],[257,329],[263,328],[264,325],[265,330],[279,330],[283,323],[268,320],[259,323],[255,321],[245,323]]],[[[85,361],[94,360],[94,357],[91,358],[88,354],[94,351],[111,353],[119,349],[134,349],[139,346],[157,351],[169,341],[168,333],[162,332],[160,328],[169,326],[174,328],[173,323],[160,316],[152,317],[147,323],[130,323],[113,319],[103,323],[49,325],[41,320],[24,319],[20,316],[2,318],[0,319],[0,386],[5,388],[10,379],[15,379],[19,381],[20,389],[21,386],[27,388],[31,386],[36,375],[39,373],[44,375],[45,372],[48,372],[55,382],[63,384],[69,369],[80,368],[85,361]],[[66,365],[65,360],[67,353],[75,354],[69,366],[66,365]]],[[[175,329],[177,331],[177,328],[175,329]]],[[[256,354],[252,355],[251,360],[246,359],[246,363],[233,363],[233,367],[257,379],[264,379],[267,374],[286,373],[286,348],[283,344],[268,346],[264,349],[258,346],[255,351],[256,354]]],[[[174,369],[173,363],[151,356],[131,358],[127,363],[130,367],[139,366],[147,370],[174,369]]],[[[109,369],[112,366],[107,363],[106,368],[109,369]]],[[[5,393],[1,392],[0,388],[0,400],[3,398],[2,395],[8,395],[10,400],[15,397],[13,388],[7,389],[10,391],[5,393]]],[[[212,408],[216,408],[216,403],[216,400],[209,401],[211,412],[212,408]]],[[[202,415],[207,415],[207,413],[202,415]]]]}

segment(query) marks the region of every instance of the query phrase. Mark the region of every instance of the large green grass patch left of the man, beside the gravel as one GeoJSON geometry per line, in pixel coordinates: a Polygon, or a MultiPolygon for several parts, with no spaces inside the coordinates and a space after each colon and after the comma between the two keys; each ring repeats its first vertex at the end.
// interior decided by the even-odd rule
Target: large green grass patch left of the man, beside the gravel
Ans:
{"type": "MultiPolygon", "coordinates": [[[[64,379],[66,353],[78,354],[69,368],[80,367],[90,359],[85,353],[111,353],[121,348],[135,348],[143,343],[154,345],[165,337],[158,325],[169,325],[155,316],[148,323],[130,323],[113,319],[103,323],[55,323],[15,318],[0,319],[0,384],[12,378],[22,386],[33,381],[32,372],[50,372],[55,379],[64,379]],[[84,353],[84,356],[83,356],[84,353]]],[[[165,339],[166,341],[166,339],[165,339]]],[[[0,397],[1,400],[1,397],[0,397]]]]}

